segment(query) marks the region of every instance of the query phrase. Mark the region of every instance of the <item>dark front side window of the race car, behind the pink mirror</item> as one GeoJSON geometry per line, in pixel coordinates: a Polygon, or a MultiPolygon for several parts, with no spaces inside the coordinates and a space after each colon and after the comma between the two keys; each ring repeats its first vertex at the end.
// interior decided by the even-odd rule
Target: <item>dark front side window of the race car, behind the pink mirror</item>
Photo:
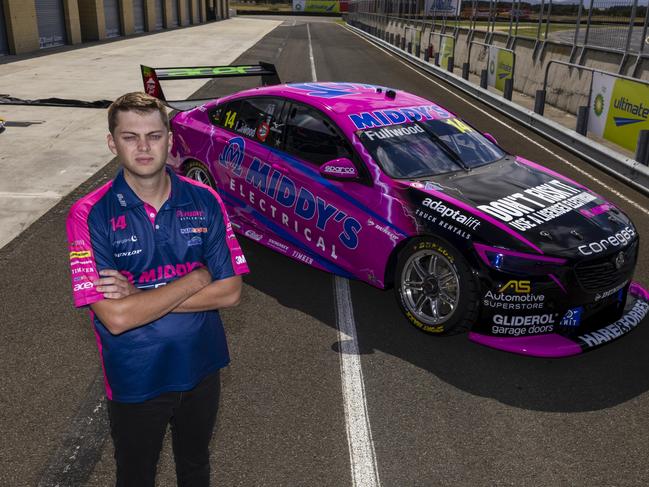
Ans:
{"type": "Polygon", "coordinates": [[[286,151],[317,165],[332,159],[352,159],[349,143],[324,115],[294,104],[286,120],[286,151]]]}

